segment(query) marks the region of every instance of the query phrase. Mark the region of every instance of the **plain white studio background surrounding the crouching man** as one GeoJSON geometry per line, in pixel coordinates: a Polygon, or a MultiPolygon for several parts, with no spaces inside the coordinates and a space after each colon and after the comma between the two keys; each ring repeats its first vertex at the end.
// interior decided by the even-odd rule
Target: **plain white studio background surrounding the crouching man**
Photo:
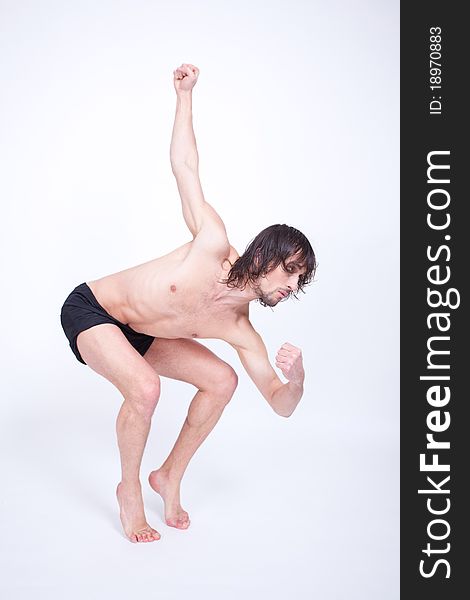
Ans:
{"type": "Polygon", "coordinates": [[[2,595],[398,598],[398,2],[1,1],[0,51],[2,595]],[[207,341],[240,384],[183,480],[183,532],[146,485],[194,393],[163,382],[142,465],[162,539],[137,545],[114,497],[121,396],[59,313],[190,239],[169,163],[182,62],[232,244],[287,223],[319,269],[299,302],[251,311],[271,359],[303,350],[289,419],[207,341]]]}

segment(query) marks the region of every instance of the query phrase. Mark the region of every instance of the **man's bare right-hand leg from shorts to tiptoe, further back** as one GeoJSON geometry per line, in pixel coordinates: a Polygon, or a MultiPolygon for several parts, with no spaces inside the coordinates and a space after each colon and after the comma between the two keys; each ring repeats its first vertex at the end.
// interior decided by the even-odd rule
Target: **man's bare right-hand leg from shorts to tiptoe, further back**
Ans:
{"type": "Polygon", "coordinates": [[[155,339],[144,355],[159,375],[191,383],[198,388],[181,432],[168,458],[149,482],[165,502],[165,520],[179,529],[189,526],[180,504],[180,484],[192,456],[219,420],[237,386],[230,365],[194,340],[155,339]]]}

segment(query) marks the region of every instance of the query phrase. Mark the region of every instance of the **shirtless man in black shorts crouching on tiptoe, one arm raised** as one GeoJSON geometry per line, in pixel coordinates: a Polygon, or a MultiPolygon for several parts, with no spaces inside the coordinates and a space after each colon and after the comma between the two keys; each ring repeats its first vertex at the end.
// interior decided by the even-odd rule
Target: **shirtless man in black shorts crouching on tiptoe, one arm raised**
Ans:
{"type": "Polygon", "coordinates": [[[197,388],[168,458],[150,473],[163,498],[167,525],[186,529],[180,483],[189,461],[231,399],[237,375],[194,338],[225,340],[261,394],[282,416],[297,406],[304,383],[301,351],[283,344],[272,368],[264,343],[248,318],[251,300],[275,306],[309,283],[315,255],[305,236],[287,225],[262,231],[239,257],[224,224],[205,200],[198,176],[192,126],[192,88],[199,71],[174,71],[177,95],[170,158],[192,241],[136,267],[77,286],[67,297],[61,322],[77,359],[108,379],[124,398],[117,418],[122,478],[117,499],[124,531],[132,542],[158,540],[146,520],[140,465],[160,376],[197,388]]]}

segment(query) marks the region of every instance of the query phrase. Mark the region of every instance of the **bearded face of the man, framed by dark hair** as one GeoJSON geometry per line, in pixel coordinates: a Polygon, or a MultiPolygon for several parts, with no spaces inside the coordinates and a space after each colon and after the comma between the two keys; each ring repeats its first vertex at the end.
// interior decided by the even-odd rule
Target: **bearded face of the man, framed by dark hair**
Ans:
{"type": "Polygon", "coordinates": [[[278,302],[297,291],[299,277],[305,272],[305,267],[293,256],[286,260],[285,268],[281,263],[264,277],[259,277],[253,289],[265,304],[276,306],[278,302]]]}

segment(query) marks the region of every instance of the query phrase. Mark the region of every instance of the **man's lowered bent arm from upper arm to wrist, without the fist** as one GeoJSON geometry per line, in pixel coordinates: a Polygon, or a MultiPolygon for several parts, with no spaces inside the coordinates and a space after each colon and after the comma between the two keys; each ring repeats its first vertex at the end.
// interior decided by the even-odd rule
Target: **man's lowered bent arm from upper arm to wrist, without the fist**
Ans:
{"type": "Polygon", "coordinates": [[[290,417],[303,395],[303,375],[282,383],[269,362],[261,336],[251,323],[248,324],[240,340],[229,343],[236,349],[246,372],[274,412],[290,417]]]}

